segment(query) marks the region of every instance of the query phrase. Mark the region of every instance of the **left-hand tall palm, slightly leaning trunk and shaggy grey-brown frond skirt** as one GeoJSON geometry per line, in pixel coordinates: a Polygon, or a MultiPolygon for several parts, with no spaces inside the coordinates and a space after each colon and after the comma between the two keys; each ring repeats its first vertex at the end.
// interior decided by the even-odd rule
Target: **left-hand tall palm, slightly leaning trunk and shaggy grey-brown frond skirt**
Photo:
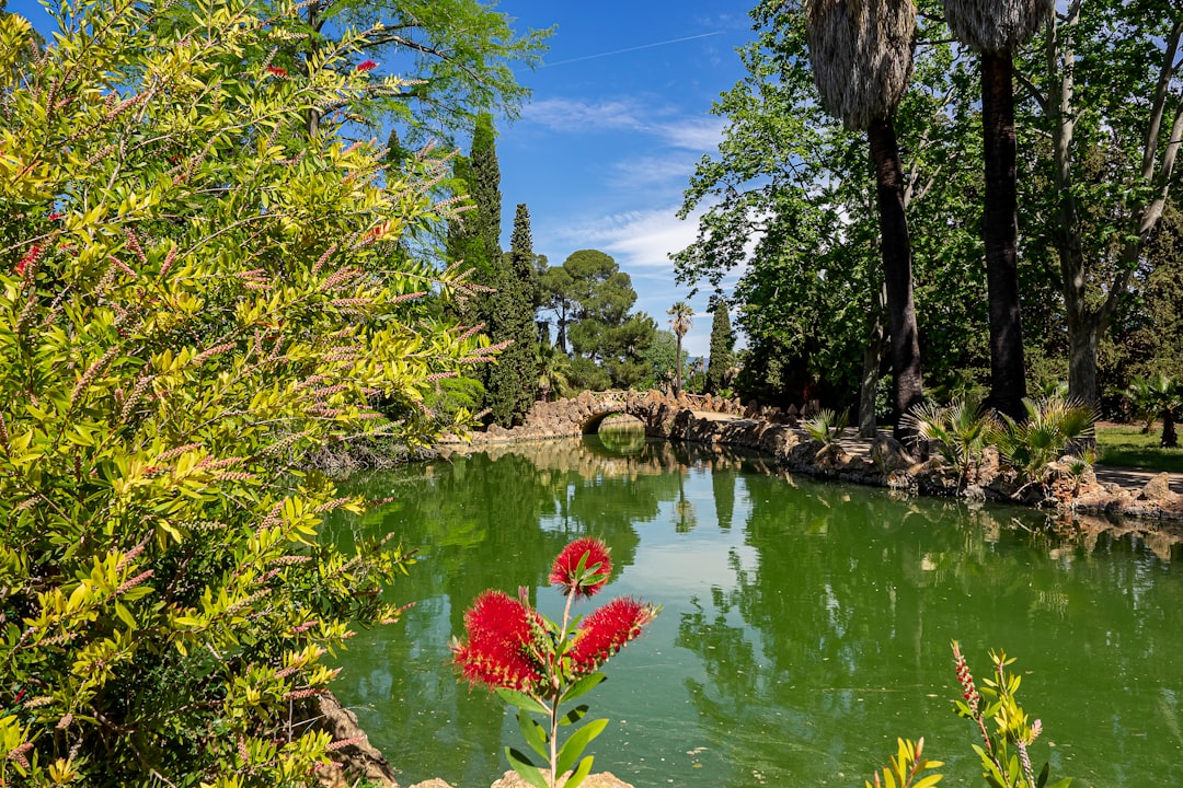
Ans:
{"type": "MultiPolygon", "coordinates": [[[[912,73],[916,6],[911,0],[806,0],[804,8],[822,105],[847,129],[867,132],[874,163],[898,417],[923,398],[912,245],[892,122],[912,73]]],[[[897,437],[909,437],[906,426],[897,437]]]]}

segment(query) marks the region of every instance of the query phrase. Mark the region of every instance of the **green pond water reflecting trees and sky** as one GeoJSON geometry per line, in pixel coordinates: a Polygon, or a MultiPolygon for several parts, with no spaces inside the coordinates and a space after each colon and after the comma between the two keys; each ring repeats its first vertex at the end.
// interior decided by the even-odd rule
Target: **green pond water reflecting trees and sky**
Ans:
{"type": "MultiPolygon", "coordinates": [[[[327,538],[396,534],[418,564],[394,588],[415,603],[340,655],[336,691],[401,784],[487,787],[521,747],[497,696],[448,664],[486,588],[547,586],[571,539],[612,548],[615,595],[664,606],[587,696],[612,723],[596,771],[638,786],[864,784],[925,737],[945,782],[984,786],[950,640],[975,676],[989,649],[1023,675],[1043,735],[1036,769],[1107,788],[1183,786],[1183,549],[1118,532],[1052,536],[1043,514],[893,496],[787,476],[758,457],[635,434],[499,448],[345,484],[383,509],[327,538]]],[[[577,610],[578,612],[578,610],[577,610]]]]}

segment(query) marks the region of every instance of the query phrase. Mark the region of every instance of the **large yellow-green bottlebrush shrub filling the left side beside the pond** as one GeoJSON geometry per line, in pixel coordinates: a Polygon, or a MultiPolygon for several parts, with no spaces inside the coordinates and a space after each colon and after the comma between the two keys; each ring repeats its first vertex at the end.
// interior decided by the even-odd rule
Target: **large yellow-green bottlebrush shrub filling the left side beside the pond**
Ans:
{"type": "Polygon", "coordinates": [[[343,144],[396,85],[348,40],[277,74],[277,5],[82,1],[44,51],[0,20],[0,784],[304,783],[290,709],[409,556],[318,543],[362,502],[300,457],[370,397],[408,442],[470,419],[421,403],[487,350],[395,248],[445,164],[343,144]]]}

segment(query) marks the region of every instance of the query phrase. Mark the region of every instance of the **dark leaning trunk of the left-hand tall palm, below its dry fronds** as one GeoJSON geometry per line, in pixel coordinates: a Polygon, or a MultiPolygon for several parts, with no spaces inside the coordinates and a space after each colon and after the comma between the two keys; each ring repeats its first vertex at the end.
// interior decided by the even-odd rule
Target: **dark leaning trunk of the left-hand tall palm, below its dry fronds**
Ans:
{"type": "Polygon", "coordinates": [[[887,289],[888,331],[896,437],[911,437],[899,430],[899,417],[924,397],[920,376],[920,340],[916,328],[916,304],[912,300],[912,245],[904,214],[904,174],[899,144],[890,118],[875,118],[867,126],[867,142],[875,167],[875,197],[883,237],[884,284],[887,289]]]}

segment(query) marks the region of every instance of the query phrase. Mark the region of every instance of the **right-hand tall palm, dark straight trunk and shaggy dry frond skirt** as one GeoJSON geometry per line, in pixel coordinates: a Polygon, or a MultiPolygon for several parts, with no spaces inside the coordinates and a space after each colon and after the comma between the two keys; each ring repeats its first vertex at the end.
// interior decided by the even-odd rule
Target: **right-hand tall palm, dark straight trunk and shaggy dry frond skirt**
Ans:
{"type": "Polygon", "coordinates": [[[1055,11],[1055,0],[944,0],[945,21],[981,57],[985,198],[982,240],[990,312],[990,396],[985,404],[1026,417],[1023,332],[1019,310],[1019,200],[1015,185],[1016,47],[1055,11]]]}

